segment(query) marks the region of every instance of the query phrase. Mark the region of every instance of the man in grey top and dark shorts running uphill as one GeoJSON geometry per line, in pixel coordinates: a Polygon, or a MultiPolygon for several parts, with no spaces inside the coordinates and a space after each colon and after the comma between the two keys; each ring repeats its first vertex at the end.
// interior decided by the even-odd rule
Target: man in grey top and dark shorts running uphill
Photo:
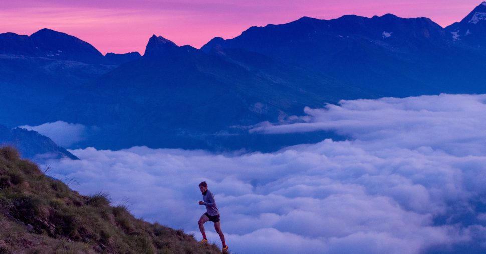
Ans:
{"type": "Polygon", "coordinates": [[[214,228],[216,229],[217,234],[219,234],[219,238],[221,238],[221,243],[223,245],[223,252],[228,251],[228,246],[224,241],[224,234],[221,231],[221,222],[219,221],[219,210],[216,206],[216,200],[214,200],[214,195],[211,191],[207,189],[207,183],[205,181],[199,183],[199,190],[202,193],[202,200],[199,201],[199,205],[206,206],[206,213],[202,214],[201,218],[199,219],[199,230],[202,233],[202,243],[207,243],[206,232],[204,231],[204,223],[207,221],[214,222],[214,228]]]}

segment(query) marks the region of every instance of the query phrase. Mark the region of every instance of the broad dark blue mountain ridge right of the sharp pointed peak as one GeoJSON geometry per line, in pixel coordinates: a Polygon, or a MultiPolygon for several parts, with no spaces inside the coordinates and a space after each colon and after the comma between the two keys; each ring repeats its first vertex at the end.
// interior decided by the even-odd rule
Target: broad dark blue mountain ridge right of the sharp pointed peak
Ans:
{"type": "Polygon", "coordinates": [[[479,83],[485,52],[455,43],[428,18],[303,17],[214,38],[201,48],[214,49],[256,52],[386,96],[486,91],[479,83]]]}

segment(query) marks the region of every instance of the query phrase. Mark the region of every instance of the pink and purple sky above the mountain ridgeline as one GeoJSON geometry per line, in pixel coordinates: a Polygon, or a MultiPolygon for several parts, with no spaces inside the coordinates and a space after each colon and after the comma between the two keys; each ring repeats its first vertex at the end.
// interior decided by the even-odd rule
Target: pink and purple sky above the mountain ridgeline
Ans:
{"type": "Polygon", "coordinates": [[[103,54],[139,51],[152,34],[200,48],[250,26],[332,19],[346,14],[428,17],[445,27],[479,5],[477,0],[17,0],[0,2],[0,33],[30,35],[50,28],[76,36],[103,54]]]}

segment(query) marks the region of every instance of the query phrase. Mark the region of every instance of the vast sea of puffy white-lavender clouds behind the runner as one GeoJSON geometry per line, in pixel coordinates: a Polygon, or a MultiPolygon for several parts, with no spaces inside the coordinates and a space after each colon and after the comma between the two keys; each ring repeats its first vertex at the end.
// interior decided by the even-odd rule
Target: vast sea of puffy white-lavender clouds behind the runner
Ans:
{"type": "MultiPolygon", "coordinates": [[[[201,238],[205,180],[232,253],[434,253],[486,249],[486,95],[341,101],[254,134],[332,130],[274,153],[72,150],[51,175],[81,194],[201,238]],[[74,184],[77,183],[77,184],[74,184]]],[[[218,243],[212,223],[210,241],[218,243]]]]}

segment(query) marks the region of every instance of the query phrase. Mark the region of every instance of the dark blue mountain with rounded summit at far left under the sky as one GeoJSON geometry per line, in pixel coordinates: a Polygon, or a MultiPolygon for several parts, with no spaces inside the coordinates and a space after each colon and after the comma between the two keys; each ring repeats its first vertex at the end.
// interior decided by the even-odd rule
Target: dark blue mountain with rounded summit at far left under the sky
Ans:
{"type": "Polygon", "coordinates": [[[43,117],[67,93],[117,65],[89,43],[62,32],[2,33],[0,123],[44,123],[43,117]]]}

